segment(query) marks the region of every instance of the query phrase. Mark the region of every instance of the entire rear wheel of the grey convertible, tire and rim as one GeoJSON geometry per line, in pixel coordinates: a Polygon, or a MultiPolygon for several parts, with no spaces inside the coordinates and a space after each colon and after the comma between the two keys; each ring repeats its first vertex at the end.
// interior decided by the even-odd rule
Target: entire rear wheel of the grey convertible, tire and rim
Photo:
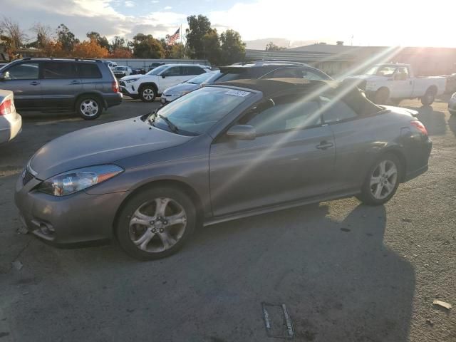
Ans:
{"type": "Polygon", "coordinates": [[[385,153],[375,160],[369,168],[361,187],[361,194],[356,197],[368,205],[385,204],[398,190],[401,172],[401,164],[398,157],[393,155],[393,153],[385,153]],[[383,165],[383,169],[381,165],[383,165]],[[390,172],[389,177],[388,171],[390,172]]]}

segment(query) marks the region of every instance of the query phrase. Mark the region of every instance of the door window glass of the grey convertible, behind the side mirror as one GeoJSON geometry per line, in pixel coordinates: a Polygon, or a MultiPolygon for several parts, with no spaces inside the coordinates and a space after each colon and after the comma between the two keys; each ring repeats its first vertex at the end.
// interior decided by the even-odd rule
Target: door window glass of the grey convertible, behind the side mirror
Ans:
{"type": "Polygon", "coordinates": [[[258,135],[321,125],[318,101],[303,101],[301,98],[302,95],[273,98],[269,100],[270,103],[266,105],[266,109],[247,113],[239,123],[252,125],[258,135]]]}

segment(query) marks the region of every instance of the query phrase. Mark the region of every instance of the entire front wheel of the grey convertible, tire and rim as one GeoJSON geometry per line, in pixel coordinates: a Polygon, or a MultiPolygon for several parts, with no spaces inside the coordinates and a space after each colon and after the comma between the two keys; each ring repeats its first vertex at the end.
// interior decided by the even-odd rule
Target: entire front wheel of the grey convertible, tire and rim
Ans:
{"type": "Polygon", "coordinates": [[[152,187],[128,199],[117,221],[115,233],[120,247],[131,257],[145,261],[162,259],[181,249],[195,229],[197,214],[184,192],[174,187],[152,187]]]}

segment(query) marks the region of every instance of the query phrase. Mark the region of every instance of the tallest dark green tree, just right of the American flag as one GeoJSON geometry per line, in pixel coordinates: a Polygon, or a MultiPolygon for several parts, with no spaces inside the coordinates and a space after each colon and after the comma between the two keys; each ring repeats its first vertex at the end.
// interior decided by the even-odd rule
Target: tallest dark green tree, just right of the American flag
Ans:
{"type": "Polygon", "coordinates": [[[187,37],[187,46],[189,48],[189,56],[191,58],[206,58],[204,44],[213,43],[212,38],[214,38],[214,33],[211,32],[211,22],[207,19],[207,16],[201,14],[198,16],[188,16],[187,22],[189,28],[185,30],[185,33],[187,37]],[[204,39],[205,37],[209,39],[204,39]]]}

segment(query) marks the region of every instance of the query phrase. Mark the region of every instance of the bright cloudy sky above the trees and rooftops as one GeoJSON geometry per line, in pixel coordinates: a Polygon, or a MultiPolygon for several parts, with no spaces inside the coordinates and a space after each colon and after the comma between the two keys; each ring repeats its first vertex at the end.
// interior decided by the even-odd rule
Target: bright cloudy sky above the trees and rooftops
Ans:
{"type": "Polygon", "coordinates": [[[164,38],[181,25],[185,31],[187,16],[204,14],[219,32],[233,28],[244,41],[456,47],[455,0],[0,0],[0,9],[24,29],[66,24],[78,38],[88,31],[164,38]]]}

